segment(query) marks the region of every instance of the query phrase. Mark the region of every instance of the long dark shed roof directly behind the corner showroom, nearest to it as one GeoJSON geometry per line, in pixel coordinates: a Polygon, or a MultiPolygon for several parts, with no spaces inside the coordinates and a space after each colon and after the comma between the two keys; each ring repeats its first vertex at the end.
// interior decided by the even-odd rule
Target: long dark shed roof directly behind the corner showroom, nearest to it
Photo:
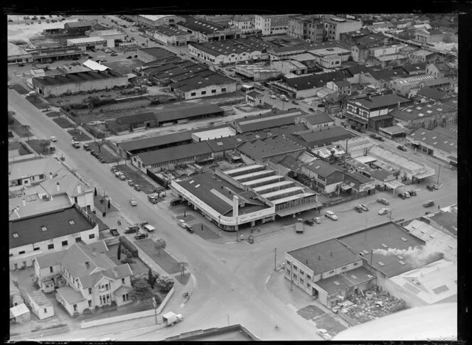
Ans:
{"type": "Polygon", "coordinates": [[[207,155],[210,153],[212,153],[212,150],[208,143],[206,141],[201,141],[200,143],[191,143],[139,153],[138,157],[141,159],[143,165],[153,165],[166,163],[172,160],[191,158],[196,155],[207,155]]]}

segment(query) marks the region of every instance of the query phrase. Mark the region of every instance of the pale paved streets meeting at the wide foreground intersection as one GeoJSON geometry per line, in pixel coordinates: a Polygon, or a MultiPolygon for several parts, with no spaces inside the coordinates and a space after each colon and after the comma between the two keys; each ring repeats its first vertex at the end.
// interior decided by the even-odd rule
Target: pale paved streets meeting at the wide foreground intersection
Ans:
{"type": "MultiPolygon", "coordinates": [[[[56,136],[58,153],[65,155],[67,163],[80,169],[80,174],[85,180],[97,186],[98,190],[106,190],[119,205],[120,210],[132,221],[146,219],[155,224],[159,229],[156,236],[163,236],[166,239],[169,251],[179,261],[186,261],[191,265],[190,271],[197,280],[198,288],[190,302],[179,310],[184,315],[185,321],[176,327],[157,331],[150,327],[146,332],[141,329],[122,332],[117,334],[118,339],[159,340],[193,329],[226,325],[228,316],[231,324],[244,324],[264,340],[318,339],[312,322],[306,322],[294,310],[281,304],[265,288],[267,276],[274,265],[274,248],[278,248],[277,261],[281,263],[284,261],[283,253],[286,251],[363,229],[366,221],[367,226],[373,226],[388,220],[387,217],[377,215],[380,204],[374,204],[371,211],[364,214],[351,211],[353,204],[360,202],[354,201],[332,208],[338,212],[339,221],[334,223],[323,219],[323,224],[310,227],[302,236],[296,236],[294,231],[286,230],[279,231],[274,236],[265,236],[262,241],[257,241],[253,245],[245,242],[226,246],[210,243],[178,228],[176,219],[166,204],[149,204],[143,193],[132,190],[124,182],[120,185],[121,182],[111,178],[108,165],[90,159],[90,154],[84,150],[73,148],[68,133],[12,89],[9,89],[9,106],[16,111],[19,121],[31,125],[31,131],[37,137],[56,136]],[[131,207],[130,197],[138,199],[139,207],[131,207]],[[345,211],[347,209],[349,210],[345,211]],[[276,331],[274,324],[281,325],[281,329],[276,331]]],[[[393,209],[394,218],[408,219],[424,214],[421,203],[431,199],[433,195],[436,204],[446,206],[456,203],[454,172],[444,170],[441,176],[444,176],[444,186],[439,191],[427,192],[423,186],[419,187],[422,189],[417,197],[407,200],[393,198],[390,207],[393,209]],[[397,214],[398,217],[395,217],[397,214]]],[[[372,199],[373,197],[370,202],[372,199]]],[[[154,317],[149,318],[152,319],[154,317]]],[[[109,334],[109,329],[112,328],[114,327],[80,330],[73,334],[50,336],[47,339],[68,340],[84,336],[89,339],[97,336],[99,339],[100,336],[109,334]]],[[[114,332],[118,332],[118,329],[114,332]]]]}

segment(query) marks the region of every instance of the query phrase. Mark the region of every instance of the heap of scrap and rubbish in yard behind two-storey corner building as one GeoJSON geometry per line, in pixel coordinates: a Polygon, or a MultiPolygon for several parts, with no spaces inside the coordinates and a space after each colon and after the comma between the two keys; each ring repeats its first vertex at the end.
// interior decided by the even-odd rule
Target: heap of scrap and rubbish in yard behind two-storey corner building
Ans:
{"type": "Polygon", "coordinates": [[[338,302],[335,308],[363,323],[407,309],[407,304],[388,292],[367,290],[349,295],[343,302],[338,302]]]}

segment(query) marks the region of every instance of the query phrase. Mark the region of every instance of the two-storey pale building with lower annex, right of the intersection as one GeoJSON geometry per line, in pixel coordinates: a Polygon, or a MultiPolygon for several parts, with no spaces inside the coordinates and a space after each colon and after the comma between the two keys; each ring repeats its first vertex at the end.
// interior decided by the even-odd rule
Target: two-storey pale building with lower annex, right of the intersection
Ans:
{"type": "Polygon", "coordinates": [[[322,305],[332,307],[353,292],[375,285],[363,260],[337,239],[285,253],[284,276],[322,305]]]}

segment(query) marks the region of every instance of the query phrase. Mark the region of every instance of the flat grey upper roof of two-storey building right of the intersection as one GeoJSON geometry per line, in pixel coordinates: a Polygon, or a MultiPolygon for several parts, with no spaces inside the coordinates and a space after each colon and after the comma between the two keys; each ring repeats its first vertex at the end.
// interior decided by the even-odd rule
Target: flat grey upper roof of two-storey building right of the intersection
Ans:
{"type": "Polygon", "coordinates": [[[313,270],[313,275],[329,272],[360,260],[337,239],[312,244],[287,252],[289,256],[313,270]]]}

